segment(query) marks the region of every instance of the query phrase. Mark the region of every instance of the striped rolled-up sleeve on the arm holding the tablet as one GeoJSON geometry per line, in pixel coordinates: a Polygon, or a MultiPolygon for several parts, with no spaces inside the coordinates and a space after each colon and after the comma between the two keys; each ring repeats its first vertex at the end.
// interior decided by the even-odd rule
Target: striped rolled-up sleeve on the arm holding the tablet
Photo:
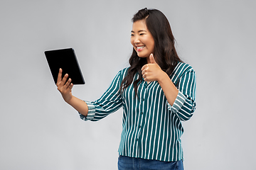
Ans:
{"type": "Polygon", "coordinates": [[[88,106],[88,114],[80,114],[82,120],[97,121],[105,118],[110,113],[117,111],[122,107],[122,96],[119,88],[122,81],[122,71],[120,71],[113,79],[110,87],[97,101],[85,101],[88,106]]]}

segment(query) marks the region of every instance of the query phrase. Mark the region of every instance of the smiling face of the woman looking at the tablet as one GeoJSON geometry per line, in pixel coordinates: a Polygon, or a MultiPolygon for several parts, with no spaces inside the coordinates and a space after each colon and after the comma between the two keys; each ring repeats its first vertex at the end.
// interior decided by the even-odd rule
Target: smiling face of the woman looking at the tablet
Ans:
{"type": "Polygon", "coordinates": [[[139,20],[132,25],[131,43],[139,57],[146,57],[149,63],[149,55],[154,54],[154,38],[146,28],[146,21],[139,20]]]}

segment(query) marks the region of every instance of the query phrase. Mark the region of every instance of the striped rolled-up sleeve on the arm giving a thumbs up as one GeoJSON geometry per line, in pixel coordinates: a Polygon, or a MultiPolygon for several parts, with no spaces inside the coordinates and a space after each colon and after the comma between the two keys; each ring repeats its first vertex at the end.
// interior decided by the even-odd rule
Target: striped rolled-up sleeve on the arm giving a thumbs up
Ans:
{"type": "Polygon", "coordinates": [[[178,95],[171,106],[168,108],[171,112],[176,113],[180,120],[189,120],[196,110],[196,73],[191,68],[186,71],[178,82],[178,95]]]}

